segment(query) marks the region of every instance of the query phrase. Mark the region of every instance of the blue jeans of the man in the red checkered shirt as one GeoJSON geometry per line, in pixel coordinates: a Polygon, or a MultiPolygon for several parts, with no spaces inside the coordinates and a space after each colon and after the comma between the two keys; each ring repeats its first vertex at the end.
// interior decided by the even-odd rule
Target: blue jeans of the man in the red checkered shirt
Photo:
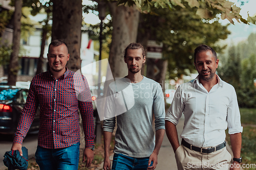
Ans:
{"type": "Polygon", "coordinates": [[[39,165],[40,170],[77,170],[79,145],[80,142],[60,149],[47,149],[37,146],[35,153],[36,163],[39,165]]]}

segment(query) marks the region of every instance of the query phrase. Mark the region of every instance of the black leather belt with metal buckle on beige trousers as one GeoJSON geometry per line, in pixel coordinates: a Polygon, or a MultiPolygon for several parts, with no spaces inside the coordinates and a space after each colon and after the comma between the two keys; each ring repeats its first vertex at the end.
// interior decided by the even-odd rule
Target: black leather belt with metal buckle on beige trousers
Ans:
{"type": "Polygon", "coordinates": [[[186,142],[184,139],[181,140],[181,144],[183,144],[186,148],[188,148],[190,150],[205,153],[205,154],[209,154],[209,153],[221,150],[222,148],[226,147],[226,141],[217,145],[216,147],[210,147],[210,148],[195,147],[194,145],[189,144],[188,142],[186,142]]]}

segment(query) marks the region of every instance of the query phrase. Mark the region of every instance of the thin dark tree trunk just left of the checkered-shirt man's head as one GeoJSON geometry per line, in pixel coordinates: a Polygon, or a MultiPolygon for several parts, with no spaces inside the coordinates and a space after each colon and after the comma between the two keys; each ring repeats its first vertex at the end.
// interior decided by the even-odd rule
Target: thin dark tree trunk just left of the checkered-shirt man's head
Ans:
{"type": "Polygon", "coordinates": [[[38,58],[36,75],[44,71],[42,69],[42,66],[44,65],[44,62],[45,62],[44,51],[45,51],[45,45],[46,45],[47,25],[48,23],[46,23],[46,26],[42,29],[41,51],[40,51],[40,57],[38,58]]]}

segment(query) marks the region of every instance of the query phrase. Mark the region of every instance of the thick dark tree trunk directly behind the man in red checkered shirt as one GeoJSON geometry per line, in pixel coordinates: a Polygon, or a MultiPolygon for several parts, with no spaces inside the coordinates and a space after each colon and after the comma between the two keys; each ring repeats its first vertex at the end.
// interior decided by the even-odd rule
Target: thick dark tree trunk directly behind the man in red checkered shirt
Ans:
{"type": "Polygon", "coordinates": [[[77,71],[81,68],[82,0],[53,0],[52,2],[52,40],[60,39],[67,43],[70,54],[67,67],[77,71]]]}

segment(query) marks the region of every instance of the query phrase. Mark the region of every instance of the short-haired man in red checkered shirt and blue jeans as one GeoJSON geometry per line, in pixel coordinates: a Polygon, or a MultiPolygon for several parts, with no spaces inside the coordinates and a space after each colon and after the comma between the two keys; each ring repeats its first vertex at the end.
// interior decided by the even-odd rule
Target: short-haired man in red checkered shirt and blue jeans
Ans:
{"type": "Polygon", "coordinates": [[[65,42],[52,41],[47,58],[50,70],[36,75],[31,81],[11,150],[18,150],[22,155],[23,140],[40,105],[36,162],[41,170],[77,170],[80,145],[79,109],[86,140],[83,162],[86,161],[86,167],[89,167],[94,158],[95,138],[89,85],[84,76],[66,67],[69,54],[65,42]]]}

